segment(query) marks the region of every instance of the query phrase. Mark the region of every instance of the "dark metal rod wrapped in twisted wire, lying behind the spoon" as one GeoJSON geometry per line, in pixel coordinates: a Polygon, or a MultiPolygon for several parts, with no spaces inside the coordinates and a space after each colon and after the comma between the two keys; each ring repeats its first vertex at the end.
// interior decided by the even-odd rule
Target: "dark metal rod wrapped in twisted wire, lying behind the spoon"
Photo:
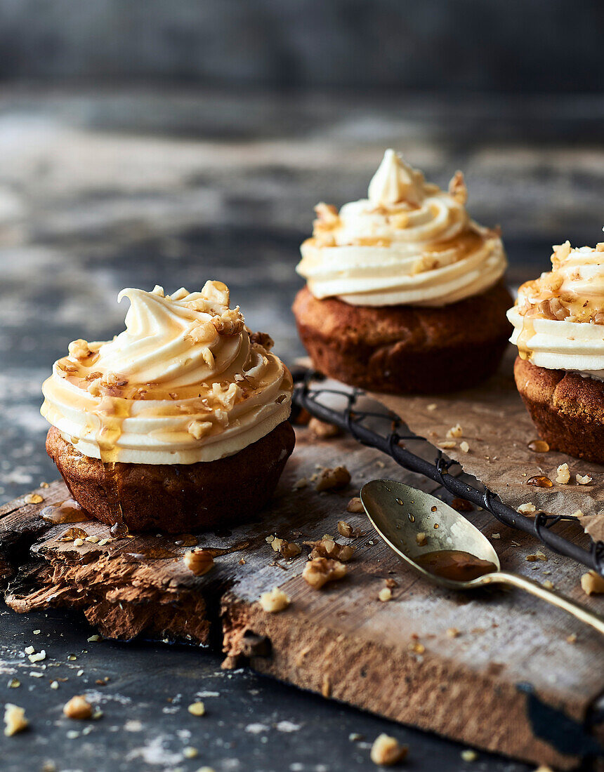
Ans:
{"type": "Polygon", "coordinates": [[[460,477],[452,475],[450,468],[458,462],[447,459],[439,450],[433,463],[426,461],[405,447],[405,442],[419,441],[429,445],[425,437],[409,432],[402,419],[389,411],[372,411],[360,408],[358,403],[365,394],[359,389],[327,388],[321,381],[323,376],[317,371],[296,367],[294,374],[294,408],[304,408],[310,415],[321,419],[348,432],[362,445],[375,448],[391,456],[409,472],[416,472],[442,485],[443,488],[462,499],[481,506],[490,512],[496,520],[511,528],[530,533],[541,543],[558,554],[571,557],[579,563],[592,568],[604,577],[604,542],[590,541],[589,549],[581,547],[552,530],[552,526],[563,520],[574,520],[572,515],[552,515],[537,512],[534,517],[527,517],[505,504],[487,488],[478,489],[469,485],[460,477]],[[326,405],[324,399],[331,395],[343,401],[343,408],[326,405]],[[368,425],[372,422],[372,426],[368,425]],[[382,425],[379,431],[374,425],[382,425]]]}

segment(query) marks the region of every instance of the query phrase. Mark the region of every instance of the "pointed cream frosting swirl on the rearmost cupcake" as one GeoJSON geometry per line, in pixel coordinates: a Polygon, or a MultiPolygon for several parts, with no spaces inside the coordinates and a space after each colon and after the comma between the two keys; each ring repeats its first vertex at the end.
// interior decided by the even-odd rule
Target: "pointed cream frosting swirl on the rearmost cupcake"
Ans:
{"type": "Polygon", "coordinates": [[[387,150],[368,198],[319,204],[297,272],[315,297],[360,306],[444,306],[484,293],[507,266],[498,233],[470,220],[457,172],[449,192],[387,150]]]}

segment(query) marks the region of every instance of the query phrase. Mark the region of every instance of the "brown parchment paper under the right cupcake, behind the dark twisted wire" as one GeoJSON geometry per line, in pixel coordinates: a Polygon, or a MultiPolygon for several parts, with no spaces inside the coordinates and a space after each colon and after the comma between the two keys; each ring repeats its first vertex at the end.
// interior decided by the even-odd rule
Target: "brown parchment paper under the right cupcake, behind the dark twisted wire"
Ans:
{"type": "Polygon", "coordinates": [[[565,453],[528,449],[538,433],[516,391],[514,357],[515,349],[509,347],[497,375],[469,391],[440,397],[372,397],[433,445],[456,442],[454,448],[443,452],[514,509],[531,502],[538,510],[555,514],[572,515],[580,510],[585,532],[594,540],[604,540],[604,466],[565,453]],[[448,438],[447,431],[456,424],[461,425],[463,436],[448,438]],[[470,445],[467,453],[460,450],[463,440],[470,445]],[[571,472],[568,485],[555,482],[556,469],[563,463],[568,463],[571,472]],[[575,482],[577,473],[589,474],[593,482],[579,485],[575,482]],[[549,477],[553,487],[529,486],[528,479],[535,475],[549,477]]]}

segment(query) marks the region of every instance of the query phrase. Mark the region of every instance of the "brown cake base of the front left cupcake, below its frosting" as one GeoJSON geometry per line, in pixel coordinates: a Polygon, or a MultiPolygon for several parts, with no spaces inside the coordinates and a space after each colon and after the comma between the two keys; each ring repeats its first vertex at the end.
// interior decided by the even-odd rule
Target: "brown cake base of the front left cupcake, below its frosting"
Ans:
{"type": "MultiPolygon", "coordinates": [[[[294,443],[294,429],[284,421],[253,445],[217,461],[118,462],[113,479],[123,522],[132,531],[183,533],[251,520],[273,495],[294,443]]],[[[114,525],[103,463],[82,455],[55,427],[46,436],[46,452],[80,506],[114,525]]]]}

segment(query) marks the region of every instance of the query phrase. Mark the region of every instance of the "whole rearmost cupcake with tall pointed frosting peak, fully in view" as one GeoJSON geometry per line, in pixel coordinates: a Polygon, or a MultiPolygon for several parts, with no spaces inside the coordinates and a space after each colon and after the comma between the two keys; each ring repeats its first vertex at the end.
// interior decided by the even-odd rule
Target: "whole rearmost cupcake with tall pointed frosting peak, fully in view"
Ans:
{"type": "Polygon", "coordinates": [[[466,201],[460,172],[445,192],[388,150],[368,198],[340,212],[317,206],[294,301],[314,367],[395,393],[452,391],[494,373],[510,334],[507,261],[466,201]]]}

